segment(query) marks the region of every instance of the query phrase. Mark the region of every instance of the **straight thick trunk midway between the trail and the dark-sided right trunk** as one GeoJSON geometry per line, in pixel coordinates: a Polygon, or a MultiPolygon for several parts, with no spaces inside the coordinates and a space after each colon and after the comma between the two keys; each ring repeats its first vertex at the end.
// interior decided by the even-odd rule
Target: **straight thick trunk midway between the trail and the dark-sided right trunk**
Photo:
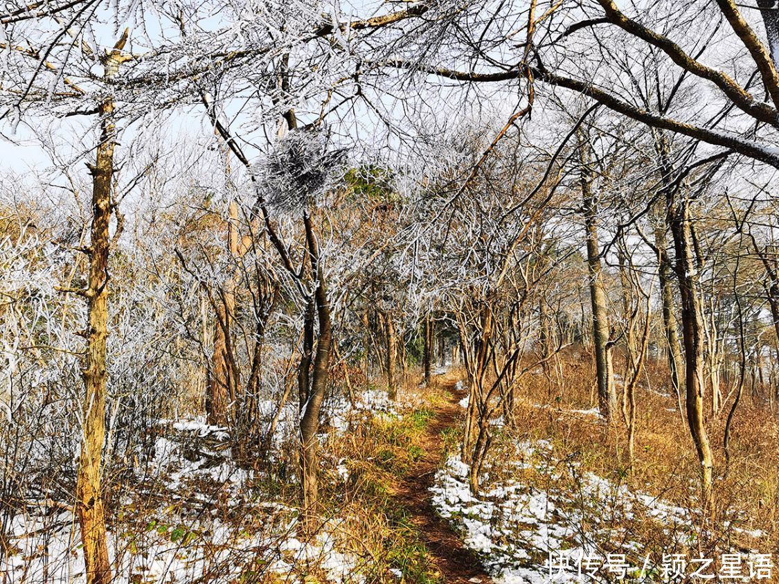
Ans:
{"type": "Polygon", "coordinates": [[[601,271],[601,256],[597,239],[597,197],[590,188],[590,177],[582,173],[581,188],[584,203],[584,223],[587,232],[587,272],[590,278],[592,306],[592,336],[597,376],[597,398],[607,423],[612,423],[617,411],[611,351],[608,346],[609,324],[606,291],[601,271]]]}

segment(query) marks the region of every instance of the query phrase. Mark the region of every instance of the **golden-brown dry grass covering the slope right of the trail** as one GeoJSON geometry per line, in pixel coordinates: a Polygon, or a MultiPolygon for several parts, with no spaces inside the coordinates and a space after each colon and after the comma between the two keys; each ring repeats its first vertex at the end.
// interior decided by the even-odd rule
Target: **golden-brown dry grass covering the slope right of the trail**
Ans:
{"type": "MultiPolygon", "coordinates": [[[[506,479],[516,469],[502,464],[518,441],[545,439],[552,442],[553,458],[537,469],[522,471],[522,481],[539,489],[568,496],[569,504],[587,513],[610,517],[617,541],[634,540],[652,550],[655,557],[671,553],[702,553],[710,557],[721,550],[779,552],[777,504],[779,504],[779,423],[767,404],[742,399],[731,430],[731,465],[724,469],[722,437],[730,402],[714,419],[710,417],[710,440],[715,452],[716,522],[714,529],[700,532],[698,463],[692,439],[682,422],[675,395],[671,395],[668,370],[662,363],[649,363],[647,374],[636,388],[636,455],[629,464],[626,430],[622,419],[608,430],[597,416],[576,410],[597,407],[590,380],[594,378],[586,353],[562,354],[562,387],[540,370],[525,376],[512,426],[498,431],[490,455],[490,478],[506,479]],[[580,477],[591,472],[613,485],[625,485],[634,493],[650,494],[689,511],[689,524],[661,525],[640,514],[626,517],[604,501],[577,500],[580,477]],[[589,507],[589,508],[588,508],[589,507]],[[760,536],[753,536],[760,530],[760,536]],[[691,535],[692,534],[692,535],[691,535]],[[701,536],[703,535],[703,536],[701,536]]],[[[621,384],[618,383],[618,389],[621,384]]],[[[608,501],[607,501],[608,503],[608,501]]],[[[628,514],[631,515],[631,514],[628,514]]],[[[588,526],[583,525],[587,530],[588,526]]],[[[774,571],[776,572],[776,571],[774,571]]],[[[775,574],[775,578],[777,575],[775,574]]]]}

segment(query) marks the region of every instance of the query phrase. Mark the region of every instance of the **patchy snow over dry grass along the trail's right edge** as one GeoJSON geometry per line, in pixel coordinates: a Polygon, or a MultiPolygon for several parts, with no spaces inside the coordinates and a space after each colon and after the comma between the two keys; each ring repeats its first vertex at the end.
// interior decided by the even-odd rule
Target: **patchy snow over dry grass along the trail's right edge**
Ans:
{"type": "Polygon", "coordinates": [[[520,442],[515,448],[516,456],[507,463],[509,471],[514,469],[506,473],[509,478],[491,483],[488,468],[478,497],[471,494],[467,465],[457,456],[449,458],[431,488],[436,510],[464,534],[464,543],[480,555],[495,584],[580,579],[573,562],[570,570],[561,575],[555,570],[550,578],[550,554],[561,550],[599,561],[607,553],[643,557],[642,543],[622,527],[633,519],[654,521],[663,533],[693,536],[688,528],[693,518],[684,508],[580,472],[578,463],[556,460],[548,441],[520,442]],[[522,480],[523,469],[545,476],[548,488],[522,480]],[[574,473],[578,489],[562,481],[563,473],[574,473]]]}

